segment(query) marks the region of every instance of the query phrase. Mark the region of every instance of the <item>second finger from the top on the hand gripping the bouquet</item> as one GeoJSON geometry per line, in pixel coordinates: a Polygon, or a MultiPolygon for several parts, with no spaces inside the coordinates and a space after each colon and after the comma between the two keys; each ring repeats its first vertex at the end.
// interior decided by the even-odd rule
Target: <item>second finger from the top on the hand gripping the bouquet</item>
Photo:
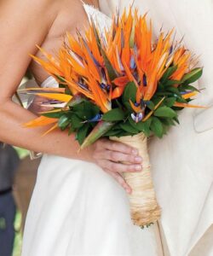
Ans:
{"type": "Polygon", "coordinates": [[[105,150],[105,151],[100,151],[99,157],[102,159],[107,159],[111,160],[114,162],[128,162],[132,164],[141,164],[142,158],[139,155],[134,155],[134,154],[124,154],[120,153],[117,151],[111,151],[111,150],[105,150]]]}

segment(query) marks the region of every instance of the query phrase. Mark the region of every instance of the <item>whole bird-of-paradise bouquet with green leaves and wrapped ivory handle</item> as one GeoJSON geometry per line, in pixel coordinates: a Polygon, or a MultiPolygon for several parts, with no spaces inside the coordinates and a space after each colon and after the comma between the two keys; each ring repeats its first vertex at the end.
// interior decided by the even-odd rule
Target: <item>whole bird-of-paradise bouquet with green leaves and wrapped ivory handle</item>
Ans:
{"type": "Polygon", "coordinates": [[[192,53],[173,36],[159,32],[153,39],[147,15],[131,9],[114,15],[103,32],[95,20],[83,36],[66,34],[57,55],[39,48],[45,60],[32,56],[59,83],[59,88],[32,88],[27,93],[49,99],[53,110],[26,124],[53,126],[75,132],[80,148],[100,137],[138,148],[143,171],[124,173],[133,189],[130,212],[134,224],[145,226],[160,217],[153,189],[147,138],[162,138],[171,125],[179,124],[178,112],[192,105],[199,93],[192,83],[202,68],[192,53]]]}

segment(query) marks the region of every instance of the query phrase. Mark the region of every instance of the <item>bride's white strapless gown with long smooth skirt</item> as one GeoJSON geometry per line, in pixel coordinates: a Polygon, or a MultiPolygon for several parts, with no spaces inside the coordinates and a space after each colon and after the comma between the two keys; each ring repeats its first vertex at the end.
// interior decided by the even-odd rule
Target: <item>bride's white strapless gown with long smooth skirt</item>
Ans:
{"type": "MultiPolygon", "coordinates": [[[[101,27],[110,24],[100,11],[84,8],[101,27]]],[[[55,86],[54,79],[43,86],[55,86]]],[[[101,167],[44,154],[27,213],[22,256],[71,255],[161,253],[156,226],[141,230],[132,224],[128,195],[101,167]]]]}

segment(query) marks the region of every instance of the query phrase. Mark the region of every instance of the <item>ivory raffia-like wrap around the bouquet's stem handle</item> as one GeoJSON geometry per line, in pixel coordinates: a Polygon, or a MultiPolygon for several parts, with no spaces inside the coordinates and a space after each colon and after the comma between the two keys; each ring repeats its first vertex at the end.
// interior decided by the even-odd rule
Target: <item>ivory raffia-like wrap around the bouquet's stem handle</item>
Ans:
{"type": "Polygon", "coordinates": [[[147,148],[147,137],[143,132],[126,137],[110,137],[111,140],[137,148],[142,157],[141,172],[124,172],[123,176],[132,188],[130,213],[134,224],[145,226],[160,218],[161,209],[156,200],[147,148]]]}

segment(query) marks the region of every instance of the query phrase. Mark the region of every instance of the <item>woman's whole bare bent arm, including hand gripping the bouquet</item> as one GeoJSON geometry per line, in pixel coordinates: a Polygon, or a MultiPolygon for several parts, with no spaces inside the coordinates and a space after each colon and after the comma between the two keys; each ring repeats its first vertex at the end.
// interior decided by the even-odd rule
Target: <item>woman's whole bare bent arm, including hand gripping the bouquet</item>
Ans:
{"type": "MultiPolygon", "coordinates": [[[[80,1],[73,0],[74,3],[80,1]]],[[[67,137],[66,132],[53,131],[41,137],[47,127],[23,128],[24,123],[36,116],[11,100],[32,61],[28,54],[35,54],[35,44],[43,43],[55,22],[60,4],[62,1],[59,0],[0,0],[0,141],[36,152],[93,161],[116,176],[125,189],[130,189],[117,172],[141,171],[141,160],[135,159],[137,152],[134,148],[101,139],[78,154],[79,146],[74,135],[67,137]],[[116,162],[124,160],[132,164],[116,162]]],[[[86,19],[86,15],[84,17],[86,19]]]]}

